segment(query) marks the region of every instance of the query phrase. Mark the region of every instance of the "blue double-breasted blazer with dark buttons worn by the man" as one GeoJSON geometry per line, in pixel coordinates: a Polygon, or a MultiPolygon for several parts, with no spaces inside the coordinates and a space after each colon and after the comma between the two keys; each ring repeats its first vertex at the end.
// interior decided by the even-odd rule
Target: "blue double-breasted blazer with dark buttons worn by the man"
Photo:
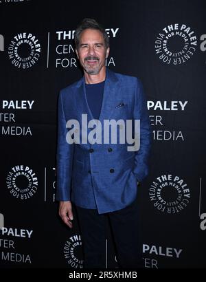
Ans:
{"type": "MultiPolygon", "coordinates": [[[[82,140],[82,113],[87,113],[88,122],[93,119],[84,76],[62,89],[58,99],[56,199],[69,200],[82,208],[98,208],[98,213],[125,208],[137,197],[137,182],[148,175],[150,121],[140,80],[106,69],[99,118],[102,124],[105,119],[140,120],[139,151],[127,151],[128,144],[119,144],[118,135],[117,144],[69,144],[67,120],[79,121],[82,140]]],[[[102,136],[103,131],[102,125],[102,136]]]]}

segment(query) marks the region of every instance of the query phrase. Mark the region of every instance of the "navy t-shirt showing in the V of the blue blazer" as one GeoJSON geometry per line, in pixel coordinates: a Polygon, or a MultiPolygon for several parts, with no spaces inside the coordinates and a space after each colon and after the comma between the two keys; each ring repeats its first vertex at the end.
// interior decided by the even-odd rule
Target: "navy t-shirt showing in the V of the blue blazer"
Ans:
{"type": "MultiPolygon", "coordinates": [[[[105,80],[104,80],[105,81],[105,80]]],[[[87,102],[93,118],[99,119],[104,93],[104,81],[95,84],[85,84],[87,102]]]]}

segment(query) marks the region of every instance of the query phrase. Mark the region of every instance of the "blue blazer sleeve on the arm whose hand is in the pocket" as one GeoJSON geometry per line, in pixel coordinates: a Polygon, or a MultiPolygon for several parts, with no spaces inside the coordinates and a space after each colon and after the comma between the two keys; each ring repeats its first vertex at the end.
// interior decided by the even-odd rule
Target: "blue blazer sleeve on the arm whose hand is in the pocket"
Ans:
{"type": "Polygon", "coordinates": [[[148,156],[151,147],[151,129],[146,97],[141,81],[136,78],[134,119],[140,120],[140,146],[135,152],[135,166],[133,173],[141,182],[148,175],[148,156]]]}

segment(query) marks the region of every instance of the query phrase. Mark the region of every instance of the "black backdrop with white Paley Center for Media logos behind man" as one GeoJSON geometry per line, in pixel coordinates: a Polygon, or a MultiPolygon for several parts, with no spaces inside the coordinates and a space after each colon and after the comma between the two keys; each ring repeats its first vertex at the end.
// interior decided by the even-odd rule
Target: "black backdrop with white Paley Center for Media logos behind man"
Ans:
{"type": "MultiPolygon", "coordinates": [[[[106,29],[106,66],[144,85],[150,174],[139,188],[144,268],[206,267],[205,1],[0,1],[0,268],[82,268],[58,216],[56,109],[82,77],[73,32],[106,29]],[[51,3],[53,2],[53,3],[51,3]]],[[[108,226],[106,268],[117,268],[108,226]]]]}

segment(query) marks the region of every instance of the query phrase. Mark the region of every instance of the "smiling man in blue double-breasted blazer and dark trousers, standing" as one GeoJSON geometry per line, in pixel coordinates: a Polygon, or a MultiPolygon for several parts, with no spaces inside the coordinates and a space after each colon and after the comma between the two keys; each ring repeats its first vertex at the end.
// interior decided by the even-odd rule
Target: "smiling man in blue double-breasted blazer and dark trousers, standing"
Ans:
{"type": "MultiPolygon", "coordinates": [[[[150,149],[150,125],[142,85],[135,77],[106,69],[108,36],[95,20],[84,19],[80,23],[75,43],[84,76],[60,91],[58,101],[59,215],[72,228],[72,204],[76,205],[85,268],[105,268],[106,218],[111,223],[119,267],[137,268],[142,260],[137,183],[148,174],[150,149]],[[86,118],[90,122],[88,128],[86,118]],[[119,130],[113,131],[112,137],[108,136],[112,130],[104,127],[106,120],[118,124],[119,130]],[[122,132],[127,120],[140,120],[138,151],[129,148],[128,142],[111,142],[113,137],[124,140],[122,132]]],[[[134,135],[138,129],[132,129],[130,133],[138,139],[139,135],[134,135]]]]}

